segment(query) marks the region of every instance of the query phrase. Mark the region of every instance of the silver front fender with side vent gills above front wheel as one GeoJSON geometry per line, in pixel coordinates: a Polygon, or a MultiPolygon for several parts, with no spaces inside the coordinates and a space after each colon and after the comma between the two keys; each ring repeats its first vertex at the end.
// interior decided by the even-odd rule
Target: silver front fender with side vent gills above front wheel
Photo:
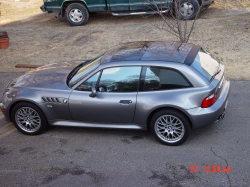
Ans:
{"type": "Polygon", "coordinates": [[[70,92],[71,90],[11,88],[3,97],[6,117],[10,119],[11,111],[15,104],[19,102],[30,102],[39,107],[48,120],[71,120],[72,117],[68,106],[70,92]],[[43,100],[43,98],[46,99],[43,100]],[[63,102],[64,100],[66,100],[66,102],[63,102]]]}

